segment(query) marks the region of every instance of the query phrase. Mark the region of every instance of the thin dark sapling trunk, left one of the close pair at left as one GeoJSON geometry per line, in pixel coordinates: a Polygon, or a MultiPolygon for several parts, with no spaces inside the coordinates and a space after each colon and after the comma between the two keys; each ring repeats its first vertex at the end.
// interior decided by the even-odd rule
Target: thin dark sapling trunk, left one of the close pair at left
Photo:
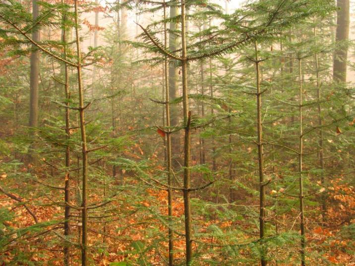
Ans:
{"type": "MultiPolygon", "coordinates": [[[[63,1],[62,1],[63,2],[63,1]]],[[[64,10],[66,12],[66,10],[64,10]]],[[[64,13],[63,15],[63,22],[66,20],[66,14],[64,13]]],[[[62,29],[62,42],[63,42],[63,56],[64,59],[66,60],[67,56],[67,32],[66,28],[63,27],[62,29]]],[[[69,174],[69,167],[70,167],[70,148],[69,148],[69,139],[70,139],[70,109],[69,109],[69,99],[70,99],[70,88],[69,88],[69,72],[68,72],[68,65],[64,63],[64,89],[65,89],[65,135],[66,135],[66,147],[65,147],[65,168],[66,168],[66,173],[65,173],[65,178],[64,178],[64,202],[69,203],[70,201],[70,187],[69,187],[69,182],[70,182],[70,174],[69,174]]],[[[68,205],[65,205],[64,208],[64,237],[67,238],[70,234],[70,225],[69,225],[69,219],[70,219],[70,207],[68,205]]],[[[64,246],[64,266],[69,266],[70,264],[70,251],[68,245],[65,243],[64,246]]]]}

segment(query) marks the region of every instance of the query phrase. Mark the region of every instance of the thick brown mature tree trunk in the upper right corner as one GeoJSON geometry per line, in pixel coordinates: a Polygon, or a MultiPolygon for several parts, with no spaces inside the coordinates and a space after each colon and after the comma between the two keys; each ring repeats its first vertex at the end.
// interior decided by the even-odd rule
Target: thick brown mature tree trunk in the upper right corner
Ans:
{"type": "MultiPolygon", "coordinates": [[[[337,12],[336,42],[347,42],[349,40],[350,0],[337,0],[337,6],[340,9],[337,12]]],[[[342,83],[347,81],[347,60],[348,44],[344,43],[334,53],[334,81],[342,83]]]]}

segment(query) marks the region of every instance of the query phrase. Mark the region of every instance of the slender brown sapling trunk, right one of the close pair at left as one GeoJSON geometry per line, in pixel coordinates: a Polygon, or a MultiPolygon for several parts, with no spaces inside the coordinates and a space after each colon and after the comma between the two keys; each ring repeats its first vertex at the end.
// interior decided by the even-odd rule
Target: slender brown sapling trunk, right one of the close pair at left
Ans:
{"type": "Polygon", "coordinates": [[[79,93],[79,117],[81,131],[81,153],[82,153],[82,239],[81,239],[81,265],[88,265],[88,211],[87,211],[87,195],[88,195],[88,176],[87,176],[87,143],[85,132],[85,116],[84,116],[84,91],[81,76],[81,52],[79,40],[79,23],[78,23],[78,0],[74,0],[75,8],[75,41],[76,41],[76,56],[77,56],[77,78],[78,78],[78,93],[79,93]]]}

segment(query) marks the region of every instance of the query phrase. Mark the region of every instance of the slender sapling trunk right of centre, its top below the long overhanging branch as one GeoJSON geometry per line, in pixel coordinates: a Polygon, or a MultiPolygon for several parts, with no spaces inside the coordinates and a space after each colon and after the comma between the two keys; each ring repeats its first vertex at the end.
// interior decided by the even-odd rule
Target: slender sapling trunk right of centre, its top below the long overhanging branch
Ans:
{"type": "MultiPolygon", "coordinates": [[[[258,47],[255,42],[255,72],[256,72],[256,108],[257,108],[257,134],[258,134],[258,164],[259,164],[259,195],[260,195],[260,209],[259,209],[259,226],[260,226],[260,240],[263,243],[265,237],[265,184],[264,184],[264,152],[262,140],[262,121],[261,121],[261,95],[260,91],[260,69],[259,69],[259,55],[258,47]]],[[[261,266],[266,266],[266,254],[262,248],[261,266]]]]}

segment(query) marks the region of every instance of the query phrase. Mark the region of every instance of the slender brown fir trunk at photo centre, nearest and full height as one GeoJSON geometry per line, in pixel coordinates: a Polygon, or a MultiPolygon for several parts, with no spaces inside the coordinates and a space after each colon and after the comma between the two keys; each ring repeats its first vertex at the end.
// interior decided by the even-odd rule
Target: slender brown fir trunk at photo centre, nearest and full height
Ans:
{"type": "Polygon", "coordinates": [[[185,244],[186,244],[186,266],[192,263],[192,242],[191,242],[191,206],[190,206],[190,122],[191,112],[188,110],[188,88],[187,88],[187,52],[186,52],[186,26],[185,26],[185,0],[181,0],[181,43],[182,43],[182,106],[185,125],[184,136],[184,170],[183,170],[183,201],[185,214],[185,244]]]}

